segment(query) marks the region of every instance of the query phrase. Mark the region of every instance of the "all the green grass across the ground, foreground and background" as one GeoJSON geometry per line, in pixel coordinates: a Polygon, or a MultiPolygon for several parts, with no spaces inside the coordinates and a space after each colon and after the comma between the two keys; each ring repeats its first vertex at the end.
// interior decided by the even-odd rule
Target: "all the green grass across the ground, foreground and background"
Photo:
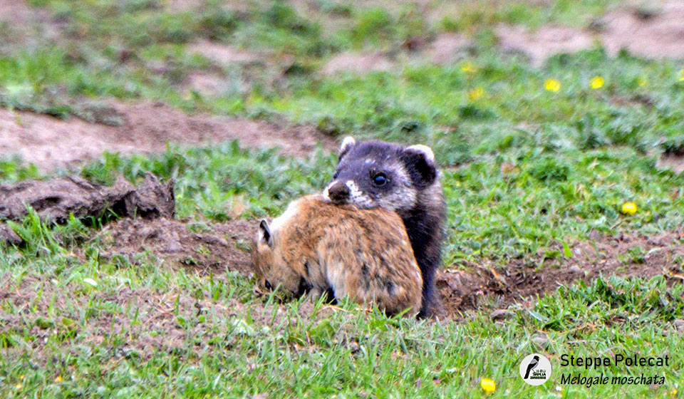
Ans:
{"type": "MultiPolygon", "coordinates": [[[[444,172],[450,269],[536,261],[593,231],[651,236],[683,226],[684,177],[656,167],[660,154],[684,151],[680,63],[608,58],[594,48],[532,68],[494,46],[497,24],[584,28],[614,1],[474,1],[430,20],[413,4],[309,3],[254,1],[235,11],[209,1],[178,11],[155,0],[33,0],[61,21],[62,36],[0,54],[0,105],[88,120],[84,103],[162,100],[188,112],[311,124],[337,138],[423,142],[444,172]],[[402,49],[407,39],[445,31],[473,41],[455,63],[432,65],[402,49]],[[200,40],[254,51],[261,61],[217,65],[190,53],[200,40]],[[343,51],[398,61],[388,72],[321,76],[321,66],[343,51]],[[159,65],[161,73],[153,68],[159,65]],[[207,98],[182,86],[193,71],[251,86],[207,98]],[[594,76],[605,86],[591,89],[594,76]],[[561,83],[558,92],[544,89],[548,78],[561,83]],[[482,95],[469,94],[476,88],[482,95]],[[628,201],[638,205],[635,215],[621,214],[628,201]]],[[[320,190],[335,162],[322,150],[301,160],[228,142],[107,154],[81,175],[105,183],[119,173],[133,182],[148,171],[173,178],[179,217],[202,224],[235,217],[236,201],[246,205],[245,218],[279,214],[320,190]]],[[[62,174],[0,161],[2,184],[62,174]]],[[[480,378],[496,381],[491,397],[673,397],[674,388],[684,390],[677,355],[684,343],[674,325],[683,318],[683,288],[663,277],[606,275],[563,286],[521,299],[503,323],[489,318],[499,307],[494,298],[465,321],[396,320],[347,303],[279,304],[255,295],[249,276],[179,269],[144,250],[133,262],[109,259],[94,229],[76,219],[54,227],[30,214],[12,228],[28,244],[0,248],[3,398],[482,398],[480,378]],[[533,341],[539,336],[547,346],[533,341]],[[532,351],[554,366],[539,388],[517,377],[532,351]],[[561,368],[564,353],[668,353],[673,364],[657,370],[665,373],[663,387],[557,390],[561,373],[583,371],[561,368]]],[[[639,264],[646,251],[634,248],[622,261],[639,264]]],[[[681,274],[682,260],[672,262],[681,274]]],[[[653,370],[609,367],[591,375],[601,372],[653,370]]]]}

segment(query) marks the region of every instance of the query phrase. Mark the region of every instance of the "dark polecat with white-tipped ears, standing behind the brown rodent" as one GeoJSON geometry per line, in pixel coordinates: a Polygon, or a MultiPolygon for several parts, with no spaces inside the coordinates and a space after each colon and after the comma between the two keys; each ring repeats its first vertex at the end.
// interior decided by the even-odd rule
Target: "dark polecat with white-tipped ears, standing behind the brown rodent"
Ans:
{"type": "Polygon", "coordinates": [[[357,143],[347,137],[323,197],[335,204],[383,208],[399,214],[423,276],[423,307],[418,316],[434,315],[440,307],[435,271],[442,261],[446,204],[430,147],[381,141],[357,143]]]}

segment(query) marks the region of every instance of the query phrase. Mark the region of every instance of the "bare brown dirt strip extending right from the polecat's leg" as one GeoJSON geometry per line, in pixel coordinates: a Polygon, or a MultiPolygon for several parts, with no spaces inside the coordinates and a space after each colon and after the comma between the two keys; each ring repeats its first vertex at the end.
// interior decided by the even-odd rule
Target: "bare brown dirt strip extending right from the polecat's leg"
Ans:
{"type": "Polygon", "coordinates": [[[684,233],[671,232],[658,237],[621,235],[594,237],[571,248],[572,257],[562,257],[562,247],[551,249],[552,257],[541,254],[533,259],[518,259],[500,270],[490,266],[470,265],[467,270],[445,270],[437,276],[445,311],[450,317],[462,317],[464,311],[479,309],[495,299],[496,306],[554,292],[561,284],[591,281],[598,276],[664,275],[684,279],[682,266],[675,257],[684,258],[684,233]]]}

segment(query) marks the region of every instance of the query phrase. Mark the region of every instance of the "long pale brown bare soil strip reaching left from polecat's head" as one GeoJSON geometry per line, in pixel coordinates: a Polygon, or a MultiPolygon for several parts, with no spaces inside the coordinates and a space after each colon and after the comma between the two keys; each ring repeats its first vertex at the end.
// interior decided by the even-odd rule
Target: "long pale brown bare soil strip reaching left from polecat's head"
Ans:
{"type": "Polygon", "coordinates": [[[0,156],[19,154],[41,170],[75,167],[106,152],[162,152],[167,142],[208,145],[237,139],[245,147],[281,147],[286,155],[309,155],[318,143],[336,144],[309,126],[279,126],[264,121],[187,115],[163,103],[109,103],[103,111],[118,126],[0,109],[0,156]],[[110,118],[112,119],[112,118],[110,118]]]}

